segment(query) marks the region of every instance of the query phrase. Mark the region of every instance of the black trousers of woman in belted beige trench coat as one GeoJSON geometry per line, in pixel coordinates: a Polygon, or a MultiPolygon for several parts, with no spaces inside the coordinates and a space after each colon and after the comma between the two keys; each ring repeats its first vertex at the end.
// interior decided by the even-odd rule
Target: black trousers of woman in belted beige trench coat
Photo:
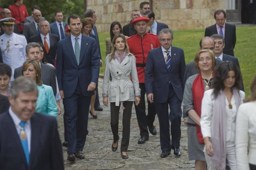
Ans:
{"type": "MultiPolygon", "coordinates": [[[[121,142],[121,152],[127,152],[129,141],[130,141],[130,126],[131,126],[131,115],[132,115],[132,101],[124,101],[125,107],[123,111],[123,133],[121,142]]],[[[111,130],[114,137],[114,142],[118,140],[118,122],[119,122],[119,106],[115,106],[115,102],[110,103],[110,115],[111,115],[111,130]]]]}

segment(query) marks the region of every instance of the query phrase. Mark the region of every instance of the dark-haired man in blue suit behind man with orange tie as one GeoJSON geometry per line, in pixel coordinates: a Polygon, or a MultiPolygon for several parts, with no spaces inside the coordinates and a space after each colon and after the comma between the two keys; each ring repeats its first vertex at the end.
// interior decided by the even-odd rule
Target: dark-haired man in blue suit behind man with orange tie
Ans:
{"type": "Polygon", "coordinates": [[[63,14],[61,11],[55,12],[55,20],[54,23],[50,24],[51,33],[59,36],[60,40],[65,39],[68,35],[65,34],[66,23],[63,22],[63,14]]]}

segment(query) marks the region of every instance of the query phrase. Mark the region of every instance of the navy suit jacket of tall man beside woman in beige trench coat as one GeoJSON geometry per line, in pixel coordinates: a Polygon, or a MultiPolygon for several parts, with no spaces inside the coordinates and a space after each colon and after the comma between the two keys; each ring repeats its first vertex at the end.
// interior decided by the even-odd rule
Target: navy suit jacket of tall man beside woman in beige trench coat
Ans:
{"type": "Polygon", "coordinates": [[[91,82],[98,84],[99,53],[95,39],[82,34],[79,65],[76,62],[71,36],[60,40],[57,45],[56,70],[59,90],[64,97],[74,93],[78,79],[84,96],[92,96],[94,91],[87,91],[91,82]]]}

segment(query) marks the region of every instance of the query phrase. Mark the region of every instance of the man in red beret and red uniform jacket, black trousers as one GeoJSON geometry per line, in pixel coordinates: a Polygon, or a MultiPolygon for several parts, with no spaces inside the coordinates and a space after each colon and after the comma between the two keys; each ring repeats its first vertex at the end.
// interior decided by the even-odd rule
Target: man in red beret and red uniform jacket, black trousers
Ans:
{"type": "Polygon", "coordinates": [[[148,101],[148,115],[146,116],[145,107],[145,67],[148,57],[148,51],[161,46],[158,36],[155,34],[147,33],[148,21],[146,17],[137,17],[131,24],[134,25],[137,34],[127,39],[129,50],[134,54],[136,58],[136,68],[138,73],[138,79],[141,89],[141,102],[138,106],[135,106],[136,116],[140,128],[141,138],[138,140],[138,144],[145,143],[148,140],[148,129],[152,135],[157,134],[153,123],[155,120],[155,106],[148,101]],[[147,128],[148,126],[148,128],[147,128]]]}

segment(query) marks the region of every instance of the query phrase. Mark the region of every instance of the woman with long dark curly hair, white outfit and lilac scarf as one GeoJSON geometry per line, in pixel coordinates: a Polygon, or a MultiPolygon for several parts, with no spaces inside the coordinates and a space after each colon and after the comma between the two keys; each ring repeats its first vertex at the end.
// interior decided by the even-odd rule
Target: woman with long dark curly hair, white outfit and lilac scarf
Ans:
{"type": "Polygon", "coordinates": [[[238,107],[244,99],[242,76],[232,61],[220,63],[210,90],[204,92],[201,107],[201,132],[208,170],[236,169],[235,130],[238,107]]]}

